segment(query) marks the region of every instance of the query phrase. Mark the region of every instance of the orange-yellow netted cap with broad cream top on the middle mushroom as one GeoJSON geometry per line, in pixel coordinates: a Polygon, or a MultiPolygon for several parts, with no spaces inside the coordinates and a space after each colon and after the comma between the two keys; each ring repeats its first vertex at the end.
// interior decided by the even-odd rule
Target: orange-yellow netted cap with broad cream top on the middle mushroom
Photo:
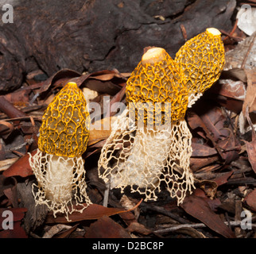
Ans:
{"type": "MultiPolygon", "coordinates": [[[[142,56],[142,61],[127,81],[126,101],[129,110],[134,106],[140,108],[151,104],[155,116],[160,116],[161,113],[166,113],[167,116],[171,114],[172,121],[184,118],[188,106],[188,92],[180,70],[164,48],[150,48],[142,56]],[[155,107],[157,102],[161,103],[159,112],[155,107]]],[[[136,114],[136,117],[140,115],[136,114]]],[[[152,116],[146,114],[144,121],[149,121],[149,117],[152,116]]],[[[155,120],[154,118],[153,122],[155,120]]]]}

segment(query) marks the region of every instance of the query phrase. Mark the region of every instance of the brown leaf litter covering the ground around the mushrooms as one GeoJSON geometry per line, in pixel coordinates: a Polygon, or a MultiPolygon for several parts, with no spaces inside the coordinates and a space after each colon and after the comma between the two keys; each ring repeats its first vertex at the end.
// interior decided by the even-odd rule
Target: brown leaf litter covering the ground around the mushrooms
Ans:
{"type": "MultiPolygon", "coordinates": [[[[252,6],[255,2],[251,2],[252,6]]],[[[126,103],[130,72],[104,70],[80,75],[64,69],[48,79],[33,71],[18,90],[0,96],[0,238],[255,238],[256,237],[256,32],[221,31],[226,65],[219,80],[187,111],[192,133],[191,171],[195,189],[177,206],[163,188],[157,201],[109,191],[98,176],[100,152],[111,129],[91,130],[83,153],[90,206],[53,216],[36,206],[32,194],[37,179],[29,153],[37,149],[42,116],[68,81],[76,82],[87,102],[97,102],[103,121],[115,112],[104,110],[110,99],[126,103]],[[253,62],[254,61],[254,62],[253,62]],[[43,80],[42,80],[43,79],[43,80]],[[14,223],[10,225],[10,211],[14,223]],[[13,228],[11,228],[13,227],[13,228]]]]}

